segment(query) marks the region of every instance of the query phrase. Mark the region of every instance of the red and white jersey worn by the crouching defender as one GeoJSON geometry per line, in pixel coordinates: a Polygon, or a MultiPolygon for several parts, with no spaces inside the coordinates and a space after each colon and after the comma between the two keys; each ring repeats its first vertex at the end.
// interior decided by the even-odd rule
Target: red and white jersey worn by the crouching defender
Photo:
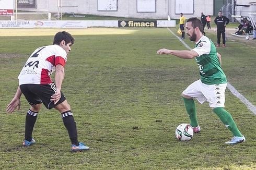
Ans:
{"type": "Polygon", "coordinates": [[[37,48],[28,58],[18,76],[21,84],[48,84],[52,83],[50,75],[55,66],[66,64],[67,53],[59,45],[48,45],[37,48]]]}

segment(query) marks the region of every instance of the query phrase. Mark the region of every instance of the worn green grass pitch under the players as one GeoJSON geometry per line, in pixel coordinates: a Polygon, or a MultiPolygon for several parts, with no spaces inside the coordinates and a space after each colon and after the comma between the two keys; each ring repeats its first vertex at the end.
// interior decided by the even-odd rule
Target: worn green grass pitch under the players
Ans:
{"type": "MultiPolygon", "coordinates": [[[[231,133],[205,103],[197,105],[200,134],[177,141],[174,131],[189,123],[181,92],[199,79],[195,61],[158,56],[166,47],[186,50],[166,28],[67,29],[75,44],[65,67],[63,92],[77,122],[79,140],[91,148],[71,153],[60,114],[42,108],[33,137],[21,146],[26,112],[6,114],[20,69],[38,46],[52,43],[59,29],[0,29],[0,165],[3,169],[253,169],[255,115],[226,90],[226,109],[247,141],[225,145],[231,133]],[[25,31],[24,31],[25,30],[25,31]],[[25,32],[28,32],[25,34],[25,32]],[[24,37],[13,35],[22,33],[24,37]],[[38,34],[38,35],[37,35],[38,34]],[[40,36],[39,36],[40,35],[40,36]]],[[[176,32],[176,28],[172,28],[176,32]]],[[[216,41],[214,33],[208,33],[216,41]]],[[[191,47],[193,43],[185,39],[191,47]]],[[[229,82],[256,104],[254,42],[228,41],[219,48],[229,82]]]]}

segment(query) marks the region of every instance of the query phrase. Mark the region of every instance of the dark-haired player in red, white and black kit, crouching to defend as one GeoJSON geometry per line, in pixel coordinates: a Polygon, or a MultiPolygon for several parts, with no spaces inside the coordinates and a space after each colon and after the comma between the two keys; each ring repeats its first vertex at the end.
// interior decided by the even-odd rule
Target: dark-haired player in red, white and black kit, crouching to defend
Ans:
{"type": "Polygon", "coordinates": [[[31,105],[26,116],[25,140],[22,143],[25,147],[36,142],[32,138],[32,132],[43,103],[49,110],[55,108],[61,113],[71,139],[71,151],[89,150],[84,143],[78,142],[71,106],[61,91],[67,54],[71,51],[72,44],[74,44],[74,38],[71,34],[66,31],[57,32],[53,45],[37,48],[20,71],[17,92],[6,111],[12,113],[16,108],[19,110],[21,94],[25,95],[31,105]],[[53,71],[55,71],[55,83],[50,78],[53,71]]]}

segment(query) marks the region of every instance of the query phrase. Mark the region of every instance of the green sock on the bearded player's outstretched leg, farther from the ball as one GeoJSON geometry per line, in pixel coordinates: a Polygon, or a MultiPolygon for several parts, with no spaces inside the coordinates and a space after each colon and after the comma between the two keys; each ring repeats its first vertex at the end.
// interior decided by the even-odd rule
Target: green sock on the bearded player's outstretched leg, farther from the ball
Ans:
{"type": "Polygon", "coordinates": [[[242,134],[237,128],[232,116],[225,110],[225,108],[216,107],[213,109],[213,112],[220,118],[220,120],[222,120],[222,122],[233,133],[234,136],[242,137],[242,134]]]}

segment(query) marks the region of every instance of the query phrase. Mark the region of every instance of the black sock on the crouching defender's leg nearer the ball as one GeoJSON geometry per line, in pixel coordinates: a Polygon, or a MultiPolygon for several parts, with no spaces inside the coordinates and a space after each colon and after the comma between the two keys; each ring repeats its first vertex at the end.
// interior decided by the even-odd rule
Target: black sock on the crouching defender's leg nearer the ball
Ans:
{"type": "Polygon", "coordinates": [[[75,145],[79,145],[79,142],[77,140],[76,122],[74,120],[72,112],[71,111],[63,112],[61,113],[61,117],[68,131],[68,135],[69,135],[69,138],[71,139],[71,143],[75,145]]]}

